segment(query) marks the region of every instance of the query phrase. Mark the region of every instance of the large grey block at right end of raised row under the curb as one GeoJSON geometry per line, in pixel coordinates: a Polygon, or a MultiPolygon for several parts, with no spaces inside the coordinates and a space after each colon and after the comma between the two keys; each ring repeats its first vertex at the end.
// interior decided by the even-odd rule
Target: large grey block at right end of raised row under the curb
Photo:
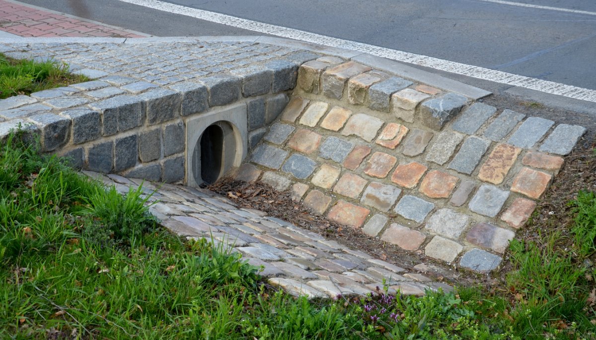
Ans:
{"type": "Polygon", "coordinates": [[[427,100],[420,105],[422,123],[433,130],[441,130],[443,125],[460,113],[468,99],[457,93],[427,100]]]}

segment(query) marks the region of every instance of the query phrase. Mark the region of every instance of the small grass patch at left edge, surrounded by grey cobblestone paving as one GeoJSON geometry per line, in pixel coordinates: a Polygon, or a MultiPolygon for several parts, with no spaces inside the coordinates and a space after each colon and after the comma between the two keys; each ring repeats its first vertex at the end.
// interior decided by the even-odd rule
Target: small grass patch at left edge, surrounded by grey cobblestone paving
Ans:
{"type": "Polygon", "coordinates": [[[0,53],[0,99],[87,81],[70,74],[66,64],[48,60],[13,59],[0,53]]]}

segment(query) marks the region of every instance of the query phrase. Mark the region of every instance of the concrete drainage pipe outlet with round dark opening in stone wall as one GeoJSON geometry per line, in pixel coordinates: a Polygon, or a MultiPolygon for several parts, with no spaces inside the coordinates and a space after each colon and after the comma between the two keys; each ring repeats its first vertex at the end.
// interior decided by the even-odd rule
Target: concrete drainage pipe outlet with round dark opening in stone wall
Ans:
{"type": "Polygon", "coordinates": [[[187,121],[187,185],[211,184],[247,155],[246,104],[187,121]]]}

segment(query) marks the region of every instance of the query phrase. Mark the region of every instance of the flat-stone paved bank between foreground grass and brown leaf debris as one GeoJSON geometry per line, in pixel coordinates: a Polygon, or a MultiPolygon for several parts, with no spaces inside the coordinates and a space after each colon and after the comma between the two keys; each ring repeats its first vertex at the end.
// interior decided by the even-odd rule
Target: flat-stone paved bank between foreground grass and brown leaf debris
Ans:
{"type": "Polygon", "coordinates": [[[240,253],[250,264],[262,268],[260,275],[268,278],[269,284],[293,295],[364,295],[376,292],[377,287],[383,289],[383,284],[392,294],[396,290],[423,295],[426,289],[452,289],[420,272],[374,259],[265,212],[238,208],[208,190],[84,173],[105,185],[114,185],[122,194],[138,185],[145,188],[145,193],[155,190],[150,202],[156,203],[150,211],[162,225],[182,237],[204,239],[240,253]]]}

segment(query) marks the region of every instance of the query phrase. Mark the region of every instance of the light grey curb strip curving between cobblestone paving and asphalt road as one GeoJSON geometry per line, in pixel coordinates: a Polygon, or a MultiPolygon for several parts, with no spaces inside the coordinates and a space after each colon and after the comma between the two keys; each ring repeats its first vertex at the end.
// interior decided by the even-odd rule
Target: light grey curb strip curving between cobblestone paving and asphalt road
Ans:
{"type": "Polygon", "coordinates": [[[404,78],[417,81],[419,83],[428,84],[429,86],[437,87],[447,92],[455,92],[464,95],[471,99],[477,100],[482,97],[491,95],[492,92],[479,89],[478,87],[470,86],[459,81],[451,80],[440,75],[436,75],[427,71],[418,70],[417,68],[404,65],[401,62],[392,61],[378,56],[370,55],[368,53],[361,53],[350,51],[349,49],[333,48],[329,46],[318,45],[314,43],[300,42],[297,40],[283,39],[266,36],[201,36],[201,37],[147,37],[147,38],[103,38],[103,37],[58,37],[58,38],[6,38],[3,43],[126,43],[126,44],[143,44],[143,43],[176,43],[176,42],[258,42],[270,45],[285,46],[297,49],[304,49],[307,51],[325,53],[340,58],[352,59],[361,64],[374,67],[378,70],[395,73],[404,78]]]}

